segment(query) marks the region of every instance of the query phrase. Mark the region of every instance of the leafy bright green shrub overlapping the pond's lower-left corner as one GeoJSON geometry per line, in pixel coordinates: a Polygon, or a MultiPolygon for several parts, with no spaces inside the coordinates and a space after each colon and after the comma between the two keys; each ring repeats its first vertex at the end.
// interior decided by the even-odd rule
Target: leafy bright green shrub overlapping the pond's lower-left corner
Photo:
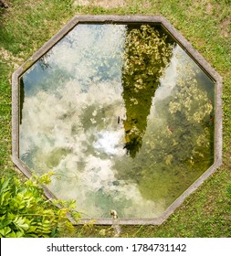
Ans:
{"type": "Polygon", "coordinates": [[[0,238],[58,237],[74,229],[68,215],[79,219],[75,201],[48,200],[40,185],[50,175],[33,176],[23,185],[16,177],[0,180],[0,238]]]}

